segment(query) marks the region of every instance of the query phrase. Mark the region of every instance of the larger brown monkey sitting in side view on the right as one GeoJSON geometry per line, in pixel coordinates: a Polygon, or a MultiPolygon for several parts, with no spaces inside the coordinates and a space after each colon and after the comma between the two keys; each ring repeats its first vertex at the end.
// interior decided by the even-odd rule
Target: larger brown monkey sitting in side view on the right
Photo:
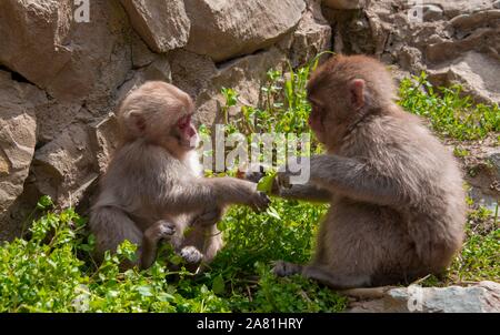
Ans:
{"type": "MultiPolygon", "coordinates": [[[[393,101],[384,65],[338,55],[308,83],[309,124],[327,148],[310,181],[280,195],[331,204],[309,265],[277,262],[334,288],[409,283],[440,274],[461,247],[464,192],[453,156],[393,101]]],[[[279,174],[281,183],[290,175],[279,174]]]]}

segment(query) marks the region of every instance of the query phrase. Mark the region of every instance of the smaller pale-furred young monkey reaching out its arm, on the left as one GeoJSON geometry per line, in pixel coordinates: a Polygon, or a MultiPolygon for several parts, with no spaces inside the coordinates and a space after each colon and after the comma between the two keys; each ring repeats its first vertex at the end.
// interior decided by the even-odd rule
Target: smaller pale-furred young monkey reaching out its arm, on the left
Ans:
{"type": "Polygon", "coordinates": [[[121,103],[121,144],[90,215],[98,257],[128,240],[138,257],[123,266],[147,268],[166,240],[197,268],[221,247],[216,223],[227,204],[268,205],[252,182],[202,176],[193,113],[189,95],[164,82],[144,83],[121,103]]]}

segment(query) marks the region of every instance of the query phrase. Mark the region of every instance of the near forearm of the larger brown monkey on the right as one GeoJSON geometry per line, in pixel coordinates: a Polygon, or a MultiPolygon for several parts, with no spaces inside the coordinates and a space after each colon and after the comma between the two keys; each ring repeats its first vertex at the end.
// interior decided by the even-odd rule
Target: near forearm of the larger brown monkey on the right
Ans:
{"type": "Polygon", "coordinates": [[[332,192],[358,201],[398,205],[408,201],[401,181],[350,158],[318,155],[311,158],[311,181],[332,192]]]}

